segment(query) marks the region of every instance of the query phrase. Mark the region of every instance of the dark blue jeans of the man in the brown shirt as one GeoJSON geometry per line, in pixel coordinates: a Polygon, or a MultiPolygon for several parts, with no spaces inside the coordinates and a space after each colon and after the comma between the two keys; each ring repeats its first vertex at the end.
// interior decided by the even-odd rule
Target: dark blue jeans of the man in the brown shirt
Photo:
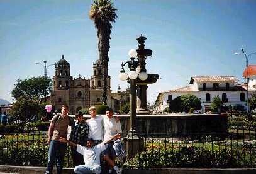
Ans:
{"type": "Polygon", "coordinates": [[[60,143],[60,141],[52,140],[48,152],[48,164],[46,174],[52,174],[53,166],[57,158],[57,174],[62,173],[64,164],[64,157],[67,150],[67,143],[60,143]]]}

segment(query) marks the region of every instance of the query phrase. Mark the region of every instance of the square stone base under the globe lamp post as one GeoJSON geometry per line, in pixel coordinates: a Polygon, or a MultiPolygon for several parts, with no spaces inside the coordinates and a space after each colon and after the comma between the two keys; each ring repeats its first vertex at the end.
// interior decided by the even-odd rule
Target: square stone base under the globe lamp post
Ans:
{"type": "Polygon", "coordinates": [[[129,158],[134,158],[137,153],[144,150],[144,138],[141,138],[135,130],[130,130],[123,141],[129,158]]]}

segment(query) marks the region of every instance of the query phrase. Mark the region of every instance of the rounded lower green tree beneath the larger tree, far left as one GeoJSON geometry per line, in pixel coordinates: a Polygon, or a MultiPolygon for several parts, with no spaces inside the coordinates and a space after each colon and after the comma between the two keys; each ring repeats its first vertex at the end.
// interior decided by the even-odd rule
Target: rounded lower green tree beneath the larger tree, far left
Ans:
{"type": "Polygon", "coordinates": [[[13,103],[10,115],[16,118],[16,120],[26,121],[27,119],[37,117],[41,107],[38,100],[18,98],[18,100],[13,103]]]}

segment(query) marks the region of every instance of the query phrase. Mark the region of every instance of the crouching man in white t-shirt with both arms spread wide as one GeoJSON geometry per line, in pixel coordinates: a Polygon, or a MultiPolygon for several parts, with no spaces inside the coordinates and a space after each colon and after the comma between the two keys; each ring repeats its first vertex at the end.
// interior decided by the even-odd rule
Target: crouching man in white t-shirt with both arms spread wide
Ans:
{"type": "MultiPolygon", "coordinates": [[[[112,140],[115,140],[116,138],[120,138],[120,133],[114,135],[111,137],[108,141],[104,141],[98,145],[94,145],[93,139],[88,139],[86,146],[81,146],[73,143],[72,141],[66,140],[65,138],[61,138],[61,142],[63,143],[69,143],[71,146],[77,147],[77,152],[81,153],[84,156],[84,165],[75,166],[74,172],[77,174],[87,174],[87,173],[101,173],[101,162],[100,162],[100,156],[101,151],[106,149],[106,143],[109,143],[112,140]]],[[[117,174],[121,173],[121,170],[116,166],[114,167],[114,170],[116,170],[117,174]]]]}

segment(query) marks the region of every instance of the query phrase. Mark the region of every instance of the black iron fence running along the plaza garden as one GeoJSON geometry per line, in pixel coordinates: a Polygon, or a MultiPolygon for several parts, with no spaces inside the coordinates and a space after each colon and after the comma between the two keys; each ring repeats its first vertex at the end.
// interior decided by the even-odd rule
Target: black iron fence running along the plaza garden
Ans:
{"type": "MultiPolygon", "coordinates": [[[[147,133],[144,150],[127,158],[130,168],[227,168],[256,167],[256,128],[228,126],[225,133],[147,133]]],[[[147,127],[147,126],[146,126],[147,127]]],[[[0,133],[0,164],[47,166],[48,132],[26,130],[0,133]]],[[[65,167],[72,167],[70,147],[65,167]]]]}

